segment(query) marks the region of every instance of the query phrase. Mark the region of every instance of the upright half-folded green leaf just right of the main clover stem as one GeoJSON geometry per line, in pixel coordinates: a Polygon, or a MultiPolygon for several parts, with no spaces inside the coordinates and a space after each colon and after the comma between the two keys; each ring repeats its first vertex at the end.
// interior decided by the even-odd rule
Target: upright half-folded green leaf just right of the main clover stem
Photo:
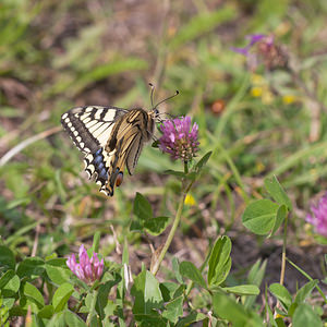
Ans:
{"type": "Polygon", "coordinates": [[[228,237],[218,238],[209,257],[208,284],[219,286],[231,268],[231,241],[228,237]]]}

